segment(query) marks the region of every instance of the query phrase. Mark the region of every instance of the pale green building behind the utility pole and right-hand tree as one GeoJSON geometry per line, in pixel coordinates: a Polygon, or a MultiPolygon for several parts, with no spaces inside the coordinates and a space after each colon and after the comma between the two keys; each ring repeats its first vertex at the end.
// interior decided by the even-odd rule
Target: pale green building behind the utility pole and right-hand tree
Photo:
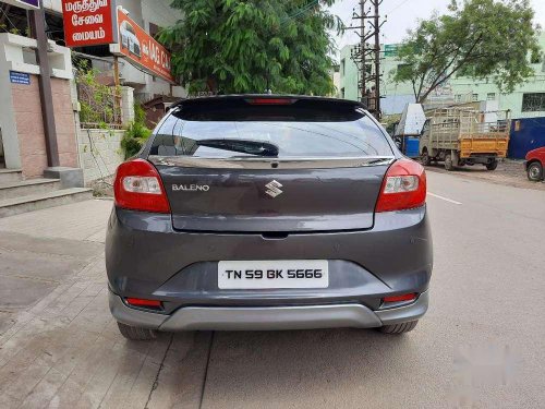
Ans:
{"type": "MultiPolygon", "coordinates": [[[[469,103],[496,100],[500,110],[511,110],[512,118],[545,117],[545,33],[540,36],[543,50],[542,59],[532,64],[534,75],[512,93],[502,94],[493,81],[455,77],[436,89],[429,99],[445,103],[469,103]]],[[[340,52],[339,96],[348,99],[359,97],[359,72],[350,58],[353,46],[346,46],[340,52]]],[[[401,113],[407,104],[414,103],[414,95],[409,83],[396,84],[392,76],[402,64],[396,57],[396,45],[384,45],[382,62],[383,93],[382,109],[384,115],[401,113]]]]}

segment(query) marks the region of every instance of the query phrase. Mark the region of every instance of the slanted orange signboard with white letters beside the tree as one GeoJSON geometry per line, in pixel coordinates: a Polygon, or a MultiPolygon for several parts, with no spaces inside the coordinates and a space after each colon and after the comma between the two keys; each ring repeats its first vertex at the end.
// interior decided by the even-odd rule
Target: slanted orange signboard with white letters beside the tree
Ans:
{"type": "Polygon", "coordinates": [[[170,70],[170,52],[121,9],[118,9],[118,38],[119,43],[110,46],[111,52],[124,57],[152,75],[174,82],[170,70]]]}

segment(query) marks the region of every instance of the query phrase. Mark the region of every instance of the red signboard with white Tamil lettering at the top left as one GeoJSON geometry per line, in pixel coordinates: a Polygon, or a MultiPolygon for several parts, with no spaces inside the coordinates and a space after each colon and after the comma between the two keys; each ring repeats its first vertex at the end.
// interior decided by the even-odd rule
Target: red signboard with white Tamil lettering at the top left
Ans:
{"type": "Polygon", "coordinates": [[[66,47],[116,43],[113,2],[114,0],[62,0],[66,47]]]}

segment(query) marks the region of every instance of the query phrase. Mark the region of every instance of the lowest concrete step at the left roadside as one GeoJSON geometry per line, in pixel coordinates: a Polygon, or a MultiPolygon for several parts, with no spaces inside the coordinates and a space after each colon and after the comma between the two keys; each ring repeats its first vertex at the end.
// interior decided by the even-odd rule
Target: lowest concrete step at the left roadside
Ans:
{"type": "Polygon", "coordinates": [[[41,208],[86,201],[93,197],[93,190],[85,188],[62,189],[48,193],[4,199],[0,201],[0,217],[39,210],[41,208]]]}

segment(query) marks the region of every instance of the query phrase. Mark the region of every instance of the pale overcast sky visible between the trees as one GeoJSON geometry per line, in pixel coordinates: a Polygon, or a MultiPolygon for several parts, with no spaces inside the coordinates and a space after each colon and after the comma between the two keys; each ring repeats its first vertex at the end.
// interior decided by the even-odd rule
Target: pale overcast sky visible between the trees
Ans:
{"type": "MultiPolygon", "coordinates": [[[[545,0],[530,1],[535,11],[535,22],[545,29],[545,0]]],[[[383,44],[400,43],[407,34],[407,31],[414,28],[419,19],[427,19],[434,10],[439,13],[446,12],[450,0],[384,0],[380,5],[380,14],[387,15],[387,21],[383,26],[383,44]]],[[[342,19],[349,26],[352,23],[352,10],[359,9],[358,0],[337,0],[331,12],[342,19]]],[[[354,26],[358,25],[354,21],[354,26]]],[[[351,31],[343,36],[337,37],[337,46],[341,49],[348,44],[359,41],[358,35],[351,31]]]]}

